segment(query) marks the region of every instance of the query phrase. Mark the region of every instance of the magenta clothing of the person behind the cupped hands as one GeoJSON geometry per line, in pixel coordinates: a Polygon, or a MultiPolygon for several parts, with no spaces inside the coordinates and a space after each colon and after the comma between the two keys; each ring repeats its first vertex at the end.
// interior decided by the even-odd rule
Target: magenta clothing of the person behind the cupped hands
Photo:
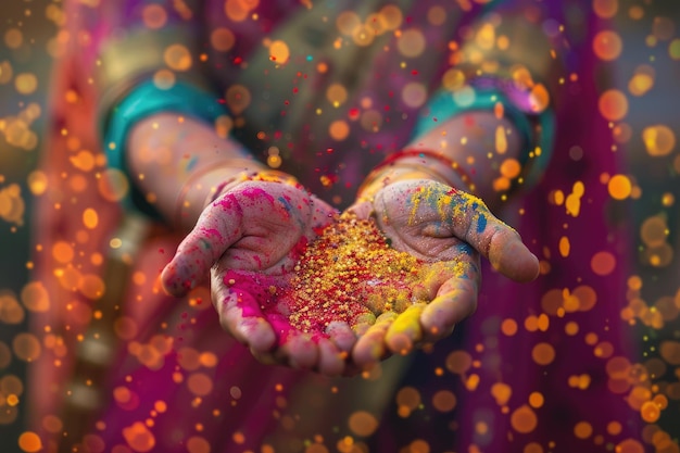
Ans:
{"type": "MultiPolygon", "coordinates": [[[[263,38],[302,14],[306,10],[304,1],[240,1],[241,7],[256,4],[250,14],[256,13],[257,20],[243,22],[230,21],[222,0],[206,0],[200,8],[194,2],[169,0],[101,0],[96,8],[70,2],[68,17],[77,18],[72,29],[87,32],[87,39],[80,35],[80,41],[89,43],[81,47],[72,41],[71,51],[58,64],[51,108],[53,139],[43,166],[54,183],[50,187],[61,187],[61,191],[50,194],[41,206],[46,223],[40,235],[48,250],[59,240],[73,241],[80,229],[74,225],[77,222],[68,210],[58,212],[51,206],[55,199],[68,199],[72,191],[60,176],[65,169],[71,172],[68,153],[72,152],[60,130],[67,126],[71,136],[80,138],[83,147],[101,148],[93,117],[93,100],[100,93],[88,85],[87,77],[97,66],[99,50],[112,36],[142,28],[142,9],[148,3],[165,7],[166,28],[188,26],[196,32],[192,45],[207,58],[201,63],[194,55],[193,67],[200,68],[201,77],[214,86],[216,97],[227,96],[228,88],[235,84],[250,89],[250,105],[237,112],[237,116],[244,118],[244,125],[235,129],[235,137],[260,158],[266,156],[269,147],[278,147],[284,158],[282,169],[294,174],[319,197],[339,207],[352,202],[356,187],[369,168],[387,153],[408,142],[418,115],[425,114],[420,108],[403,102],[399,96],[403,85],[421,81],[429,93],[439,89],[438,80],[450,67],[449,43],[459,42],[462,30],[479,18],[484,9],[501,16],[533,17],[537,27],[546,29],[570,14],[571,25],[558,40],[569,43],[569,51],[561,48],[567,64],[563,76],[570,80],[574,74],[577,81],[567,81],[559,86],[561,93],[554,93],[558,99],[553,105],[555,144],[543,179],[521,199],[508,202],[503,213],[543,261],[545,273],[536,282],[513,284],[486,266],[477,313],[458,326],[450,339],[414,354],[403,376],[326,379],[256,363],[243,347],[222,331],[206,299],[197,304],[196,294],[194,299],[181,301],[162,295],[154,286],[155,278],[169,260],[178,238],[173,234],[160,235],[156,242],[144,246],[135,263],[135,269],[146,279],[130,286],[129,303],[124,310],[129,311],[127,316],[134,319],[136,332],[121,342],[115,366],[108,376],[104,394],[110,403],[93,420],[100,423],[89,439],[91,451],[272,451],[263,450],[262,445],[272,445],[276,452],[326,451],[310,446],[319,443],[325,444],[327,451],[341,448],[345,449],[341,451],[363,451],[361,449],[370,446],[370,451],[398,452],[408,445],[413,449],[421,445],[414,441],[425,441],[431,452],[605,452],[627,438],[640,437],[640,416],[630,408],[625,394],[610,390],[612,376],[607,372],[612,357],[628,357],[632,362],[634,344],[627,337],[619,315],[628,268],[624,253],[628,249],[627,231],[621,216],[614,210],[606,184],[602,183],[603,174],[614,175],[621,168],[618,155],[610,151],[610,131],[596,104],[597,66],[590,42],[599,25],[591,17],[590,2],[565,1],[558,7],[557,2],[547,1],[498,1],[486,7],[469,1],[400,2],[403,27],[423,32],[427,38],[426,51],[408,60],[408,71],[402,67],[403,56],[394,51],[378,52],[370,59],[357,61],[357,74],[348,100],[332,111],[332,117],[347,118],[353,109],[362,112],[370,109],[377,112],[380,128],[370,131],[363,128],[361,122],[349,122],[350,134],[342,141],[328,136],[330,119],[316,113],[330,83],[315,70],[324,59],[323,53],[307,59],[292,49],[295,65],[289,65],[287,72],[272,70],[259,74],[256,79],[243,78],[244,62],[253,61],[263,38]],[[191,15],[182,16],[185,3],[192,11],[191,15]],[[433,5],[451,12],[448,26],[419,25],[428,23],[427,15],[433,5]],[[465,5],[469,5],[468,11],[465,5]],[[581,26],[577,27],[579,21],[581,26]],[[210,47],[211,32],[218,27],[227,27],[236,36],[235,46],[228,52],[217,52],[210,47]],[[67,89],[80,95],[77,108],[66,105],[63,95],[67,89]],[[303,92],[308,96],[303,97],[303,92]],[[293,119],[289,119],[291,115],[293,119]],[[580,151],[575,152],[575,147],[580,151]],[[568,197],[577,183],[582,183],[584,193],[580,198],[580,213],[574,215],[564,203],[554,202],[554,192],[559,190],[568,197]],[[570,241],[567,255],[561,253],[563,237],[570,241]],[[615,260],[610,272],[603,273],[592,265],[593,257],[602,252],[606,254],[599,256],[615,260]],[[550,301],[554,300],[555,291],[574,293],[575,290],[581,295],[594,293],[596,302],[587,311],[567,312],[562,317],[551,312],[550,301]],[[542,314],[549,319],[545,329],[525,328],[527,318],[536,319],[542,314]],[[518,326],[516,334],[508,335],[502,328],[507,319],[518,326]],[[577,323],[578,332],[567,334],[568,323],[577,323]],[[167,345],[163,339],[168,341],[167,345]],[[539,352],[534,354],[537,345],[539,352]],[[537,354],[544,357],[540,352],[545,350],[552,350],[554,358],[545,364],[537,363],[533,357],[537,354]],[[467,355],[451,355],[455,351],[467,355]],[[193,355],[203,358],[188,358],[193,355]],[[469,366],[463,375],[453,373],[459,363],[452,357],[463,356],[470,358],[469,366]],[[585,388],[574,385],[574,377],[582,376],[590,379],[585,388]],[[404,387],[415,389],[423,404],[407,416],[399,411],[398,404],[399,390],[404,387]],[[506,394],[499,390],[505,388],[512,392],[506,394]],[[457,401],[455,410],[436,407],[432,398],[440,391],[453,392],[457,401]],[[507,395],[506,401],[501,401],[503,398],[499,395],[503,394],[507,395]],[[383,407],[375,410],[367,395],[385,395],[386,403],[380,404],[383,407]],[[357,411],[372,412],[381,419],[373,436],[363,438],[349,425],[350,416],[357,411]],[[613,421],[620,424],[618,432],[608,429],[613,421]],[[592,435],[577,437],[575,427],[579,423],[588,423],[592,435]],[[351,450],[348,436],[360,450],[351,450]],[[105,446],[98,450],[101,445],[105,446]]],[[[327,4],[335,11],[344,11],[361,10],[365,2],[329,1],[327,4]]],[[[324,27],[322,23],[319,28],[324,27]]],[[[390,46],[395,46],[395,38],[390,46]]],[[[329,74],[333,74],[333,70],[329,67],[329,74]]],[[[331,110],[327,104],[324,109],[331,110]]],[[[86,177],[96,184],[93,174],[86,177]]],[[[99,228],[91,232],[91,240],[81,246],[90,253],[106,249],[112,227],[121,216],[116,203],[98,197],[95,191],[79,193],[73,203],[75,207],[72,206],[73,212],[78,213],[77,209],[92,203],[110,207],[108,213],[100,213],[99,228]]],[[[83,274],[101,270],[87,259],[89,253],[83,257],[83,274]]],[[[77,332],[85,326],[68,320],[72,315],[61,313],[62,306],[74,300],[78,306],[89,307],[92,303],[60,288],[52,276],[56,264],[49,256],[39,261],[38,272],[42,274],[38,275],[54,289],[54,295],[53,313],[36,322],[36,330],[43,331],[45,325],[72,323],[73,329],[64,338],[67,347],[74,348],[77,332]]],[[[33,378],[34,405],[37,406],[34,420],[45,443],[52,445],[48,451],[53,449],[53,439],[59,436],[48,432],[45,417],[59,414],[59,395],[64,392],[68,365],[68,353],[59,355],[56,349],[46,350],[33,378]],[[61,360],[60,367],[54,367],[55,357],[61,360]],[[54,383],[46,386],[46,378],[54,383]],[[48,440],[50,437],[52,440],[48,440]]],[[[383,373],[389,373],[389,368],[383,373]]]]}

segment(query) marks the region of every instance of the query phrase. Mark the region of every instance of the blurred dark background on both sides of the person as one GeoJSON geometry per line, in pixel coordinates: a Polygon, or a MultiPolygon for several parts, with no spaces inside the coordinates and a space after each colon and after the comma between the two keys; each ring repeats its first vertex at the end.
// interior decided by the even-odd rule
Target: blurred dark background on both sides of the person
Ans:
{"type": "MultiPolygon", "coordinates": [[[[112,0],[115,1],[115,0],[112,0]]],[[[547,1],[547,0],[544,0],[547,1]]],[[[610,74],[602,91],[618,102],[612,115],[617,151],[629,171],[624,190],[637,232],[635,268],[621,322],[641,344],[638,361],[664,398],[647,412],[651,451],[677,452],[680,437],[680,1],[592,0],[610,26],[593,50],[610,74]],[[654,440],[654,427],[670,433],[654,440]],[[668,446],[670,445],[670,446],[668,446]],[[675,446],[673,446],[675,445],[675,446]],[[675,449],[675,450],[673,450],[675,449]]],[[[0,7],[0,451],[17,452],[25,430],[26,362],[15,344],[27,331],[22,290],[30,281],[32,209],[45,190],[34,173],[42,152],[46,101],[58,49],[61,0],[9,0],[0,7]]],[[[620,180],[619,180],[620,183],[620,180]]],[[[656,400],[655,400],[656,401],[656,400]]]]}

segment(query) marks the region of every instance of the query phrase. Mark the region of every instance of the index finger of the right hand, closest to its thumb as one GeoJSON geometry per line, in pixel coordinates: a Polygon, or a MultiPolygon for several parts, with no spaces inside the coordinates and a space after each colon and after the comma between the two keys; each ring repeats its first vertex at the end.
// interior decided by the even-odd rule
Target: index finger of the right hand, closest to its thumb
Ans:
{"type": "Polygon", "coordinates": [[[478,270],[473,263],[467,263],[465,267],[467,272],[461,268],[457,275],[446,280],[437,297],[423,310],[423,341],[437,341],[451,335],[457,323],[475,312],[479,287],[478,270]]]}

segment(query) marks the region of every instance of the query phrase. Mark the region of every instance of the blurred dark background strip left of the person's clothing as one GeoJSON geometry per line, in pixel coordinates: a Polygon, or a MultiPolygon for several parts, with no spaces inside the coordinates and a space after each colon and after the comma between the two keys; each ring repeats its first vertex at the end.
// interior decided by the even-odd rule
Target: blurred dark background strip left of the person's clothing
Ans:
{"type": "MultiPolygon", "coordinates": [[[[29,181],[40,156],[46,96],[56,49],[60,1],[10,0],[0,7],[0,451],[18,451],[25,365],[13,344],[27,331],[21,292],[29,277],[29,181]]],[[[35,187],[34,187],[35,188],[35,187]]]]}

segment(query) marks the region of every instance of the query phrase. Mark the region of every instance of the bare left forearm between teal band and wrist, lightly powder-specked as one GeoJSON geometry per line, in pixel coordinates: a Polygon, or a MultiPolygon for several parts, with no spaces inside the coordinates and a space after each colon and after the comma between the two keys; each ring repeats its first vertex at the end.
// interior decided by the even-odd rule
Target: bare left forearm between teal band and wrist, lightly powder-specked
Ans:
{"type": "Polygon", "coordinates": [[[130,129],[126,146],[131,184],[168,223],[196,224],[217,190],[266,169],[242,146],[222,138],[205,122],[159,113],[130,129]]]}

